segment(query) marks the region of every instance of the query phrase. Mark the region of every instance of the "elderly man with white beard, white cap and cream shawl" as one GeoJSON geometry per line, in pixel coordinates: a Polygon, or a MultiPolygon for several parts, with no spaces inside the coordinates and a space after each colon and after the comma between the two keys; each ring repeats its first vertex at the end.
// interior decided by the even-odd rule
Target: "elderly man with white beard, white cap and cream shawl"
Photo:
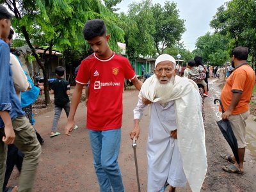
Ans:
{"type": "Polygon", "coordinates": [[[148,192],[183,187],[200,191],[207,172],[204,122],[198,87],[190,79],[176,76],[175,59],[162,54],[154,75],[143,83],[134,109],[131,139],[138,140],[140,119],[150,104],[148,130],[148,192]],[[147,104],[145,104],[147,103],[147,104]]]}

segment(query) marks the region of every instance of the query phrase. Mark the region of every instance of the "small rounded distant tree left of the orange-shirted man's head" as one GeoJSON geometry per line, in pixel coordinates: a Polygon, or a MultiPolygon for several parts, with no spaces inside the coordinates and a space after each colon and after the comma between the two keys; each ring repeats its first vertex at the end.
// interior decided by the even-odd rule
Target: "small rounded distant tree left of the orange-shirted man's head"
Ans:
{"type": "Polygon", "coordinates": [[[228,39],[220,34],[206,33],[196,40],[195,55],[202,56],[205,63],[223,65],[228,58],[228,39]]]}

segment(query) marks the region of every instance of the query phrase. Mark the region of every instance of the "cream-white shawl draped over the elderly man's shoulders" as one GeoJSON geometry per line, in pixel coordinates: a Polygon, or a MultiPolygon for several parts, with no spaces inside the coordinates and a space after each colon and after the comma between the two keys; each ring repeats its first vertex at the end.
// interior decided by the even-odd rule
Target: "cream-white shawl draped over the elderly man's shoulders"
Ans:
{"type": "MultiPolygon", "coordinates": [[[[139,97],[144,97],[152,102],[161,102],[161,98],[156,98],[154,86],[157,81],[159,80],[155,75],[149,77],[143,83],[139,97]]],[[[192,191],[200,191],[207,172],[207,157],[202,98],[198,86],[190,79],[175,76],[173,92],[164,102],[170,100],[175,100],[177,141],[184,173],[192,191]]]]}

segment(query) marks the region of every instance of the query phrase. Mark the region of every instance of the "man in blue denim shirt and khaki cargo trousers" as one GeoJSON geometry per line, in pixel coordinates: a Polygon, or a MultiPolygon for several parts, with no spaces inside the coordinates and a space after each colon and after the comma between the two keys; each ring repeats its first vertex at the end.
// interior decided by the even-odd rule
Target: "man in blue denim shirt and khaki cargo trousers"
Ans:
{"type": "MultiPolygon", "coordinates": [[[[11,18],[8,10],[0,5],[0,36],[3,39],[10,33],[11,18]]],[[[3,40],[0,40],[0,61],[0,189],[4,183],[7,145],[14,143],[24,154],[19,191],[28,192],[33,188],[41,146],[36,139],[35,129],[22,111],[15,93],[10,66],[10,47],[3,40]]],[[[17,188],[12,191],[17,191],[17,188]]]]}

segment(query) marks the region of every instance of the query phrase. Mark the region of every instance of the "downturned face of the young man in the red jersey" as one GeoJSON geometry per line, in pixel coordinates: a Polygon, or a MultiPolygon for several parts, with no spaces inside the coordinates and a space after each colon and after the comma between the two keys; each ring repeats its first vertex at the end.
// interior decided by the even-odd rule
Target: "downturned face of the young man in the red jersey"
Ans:
{"type": "Polygon", "coordinates": [[[106,36],[95,36],[92,40],[88,40],[88,44],[92,47],[93,52],[97,55],[104,57],[106,51],[108,51],[108,40],[110,35],[106,36]]]}

